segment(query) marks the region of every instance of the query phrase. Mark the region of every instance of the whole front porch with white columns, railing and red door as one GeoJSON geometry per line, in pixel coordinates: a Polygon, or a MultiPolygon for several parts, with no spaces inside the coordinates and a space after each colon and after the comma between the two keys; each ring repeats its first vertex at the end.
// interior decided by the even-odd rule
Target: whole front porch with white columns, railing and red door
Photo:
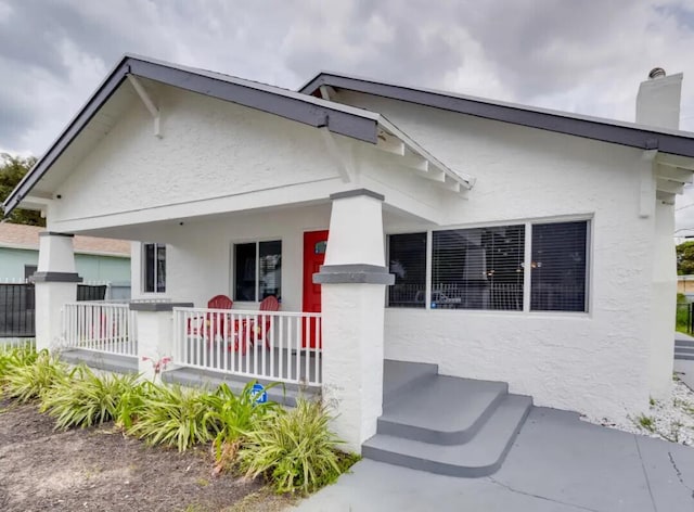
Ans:
{"type": "Polygon", "coordinates": [[[334,405],[335,432],[359,451],[382,411],[393,282],[384,200],[365,190],[329,200],[88,230],[138,241],[128,303],[77,303],[72,236],[46,232],[35,276],[37,346],[90,364],[117,359],[144,379],[166,358],[164,380],[258,380],[321,393],[334,405]],[[228,305],[213,307],[220,295],[228,305]],[[279,310],[261,310],[268,296],[280,299],[279,310]]]}

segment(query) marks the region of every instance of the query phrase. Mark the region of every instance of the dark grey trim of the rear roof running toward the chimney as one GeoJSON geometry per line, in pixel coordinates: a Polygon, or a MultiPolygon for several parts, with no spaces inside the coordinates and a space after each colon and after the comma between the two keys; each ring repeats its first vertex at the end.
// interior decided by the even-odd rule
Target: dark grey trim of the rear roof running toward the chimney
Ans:
{"type": "Polygon", "coordinates": [[[331,86],[334,89],[347,89],[458,112],[460,114],[484,117],[486,119],[612,142],[642,150],[658,150],[664,153],[694,157],[694,136],[687,132],[660,131],[631,123],[619,123],[523,105],[503,104],[474,97],[414,89],[333,73],[319,73],[313,79],[301,87],[299,92],[312,94],[320,86],[331,86]]]}

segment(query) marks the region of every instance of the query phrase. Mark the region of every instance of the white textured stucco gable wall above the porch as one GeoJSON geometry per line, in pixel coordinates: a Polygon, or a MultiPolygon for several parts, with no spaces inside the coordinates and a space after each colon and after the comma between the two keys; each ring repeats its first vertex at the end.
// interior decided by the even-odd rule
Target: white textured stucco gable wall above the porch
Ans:
{"type": "Polygon", "coordinates": [[[150,114],[133,103],[59,188],[52,223],[115,214],[131,214],[134,222],[145,213],[154,219],[150,209],[338,179],[313,128],[170,87],[153,89],[163,137],[154,137],[150,114]]]}

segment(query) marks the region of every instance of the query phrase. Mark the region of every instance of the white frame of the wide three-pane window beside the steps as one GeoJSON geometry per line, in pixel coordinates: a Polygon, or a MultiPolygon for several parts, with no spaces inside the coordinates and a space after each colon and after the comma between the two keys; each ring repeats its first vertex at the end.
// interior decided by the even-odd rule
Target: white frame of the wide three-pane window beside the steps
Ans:
{"type": "MultiPolygon", "coordinates": [[[[524,269],[524,279],[523,279],[523,308],[519,310],[507,310],[507,309],[453,309],[453,311],[464,311],[464,312],[475,312],[475,313],[505,313],[505,315],[522,315],[528,313],[532,316],[542,316],[542,315],[569,315],[569,316],[591,316],[592,312],[592,297],[593,297],[593,216],[592,215],[567,215],[567,216],[555,216],[555,217],[547,217],[547,218],[534,218],[534,219],[523,219],[523,220],[513,220],[509,219],[505,221],[497,221],[497,222],[474,222],[470,225],[453,225],[439,227],[437,229],[398,229],[394,231],[389,231],[386,233],[386,260],[390,260],[390,235],[394,234],[409,234],[409,233],[417,233],[426,231],[426,247],[425,247],[425,258],[426,258],[426,283],[425,283],[425,307],[424,310],[436,310],[436,311],[451,311],[449,309],[440,309],[440,308],[432,308],[432,270],[434,267],[433,263],[433,239],[434,232],[436,231],[449,231],[449,230],[465,230],[465,229],[477,229],[477,228],[492,228],[499,226],[524,226],[525,229],[525,247],[524,247],[524,259],[523,265],[524,269]],[[532,272],[530,271],[530,263],[532,260],[532,227],[534,225],[549,225],[549,223],[565,223],[565,222],[586,222],[586,290],[584,290],[584,304],[582,311],[571,311],[571,310],[532,310],[531,306],[531,290],[532,290],[532,272]]],[[[388,305],[388,294],[386,293],[385,306],[388,309],[399,310],[412,310],[417,309],[422,310],[422,308],[408,308],[408,307],[393,307],[388,305]]]]}

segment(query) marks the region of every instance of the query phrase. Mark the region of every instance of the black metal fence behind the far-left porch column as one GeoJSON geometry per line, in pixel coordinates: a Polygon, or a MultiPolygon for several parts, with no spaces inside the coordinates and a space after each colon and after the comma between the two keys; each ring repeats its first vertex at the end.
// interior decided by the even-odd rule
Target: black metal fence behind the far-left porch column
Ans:
{"type": "MultiPolygon", "coordinates": [[[[106,285],[77,285],[77,300],[103,300],[106,285]]],[[[34,283],[0,283],[0,337],[36,336],[34,283]]]]}

